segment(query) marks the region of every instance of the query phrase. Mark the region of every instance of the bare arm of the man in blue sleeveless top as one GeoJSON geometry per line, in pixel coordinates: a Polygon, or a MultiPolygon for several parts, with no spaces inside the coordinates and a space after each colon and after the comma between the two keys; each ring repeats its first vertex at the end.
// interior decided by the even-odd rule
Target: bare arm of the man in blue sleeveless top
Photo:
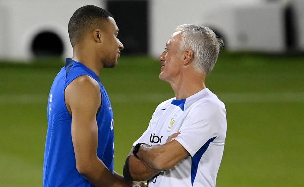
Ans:
{"type": "Polygon", "coordinates": [[[72,141],[76,168],[95,187],[130,187],[117,179],[97,156],[96,114],[101,104],[98,83],[80,76],[65,90],[65,101],[72,115],[72,141]]]}

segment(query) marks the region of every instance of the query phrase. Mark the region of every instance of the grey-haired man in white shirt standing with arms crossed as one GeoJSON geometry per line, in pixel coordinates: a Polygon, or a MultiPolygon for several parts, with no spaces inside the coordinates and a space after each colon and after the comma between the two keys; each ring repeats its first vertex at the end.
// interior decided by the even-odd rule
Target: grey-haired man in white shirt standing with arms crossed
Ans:
{"type": "Polygon", "coordinates": [[[180,25],[160,55],[159,78],[175,98],[156,108],[124,166],[149,187],[215,187],[226,137],[226,109],[205,86],[223,41],[207,27],[180,25]]]}

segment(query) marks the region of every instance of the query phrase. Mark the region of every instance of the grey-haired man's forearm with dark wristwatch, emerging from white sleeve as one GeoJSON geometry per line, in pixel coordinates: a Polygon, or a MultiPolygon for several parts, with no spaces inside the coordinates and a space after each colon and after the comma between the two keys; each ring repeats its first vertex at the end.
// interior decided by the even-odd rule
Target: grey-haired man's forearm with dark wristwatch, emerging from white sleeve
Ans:
{"type": "Polygon", "coordinates": [[[188,155],[188,151],[176,140],[164,145],[143,145],[137,152],[145,166],[154,171],[170,169],[188,155]]]}

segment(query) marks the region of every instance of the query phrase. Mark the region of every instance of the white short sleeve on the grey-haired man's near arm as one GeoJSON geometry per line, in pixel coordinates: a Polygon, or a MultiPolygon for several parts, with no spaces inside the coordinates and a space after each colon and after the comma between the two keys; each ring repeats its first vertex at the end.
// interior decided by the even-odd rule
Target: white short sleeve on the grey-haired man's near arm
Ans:
{"type": "Polygon", "coordinates": [[[216,104],[201,104],[192,109],[180,129],[181,134],[174,138],[191,156],[208,141],[221,135],[226,125],[226,110],[216,104]]]}

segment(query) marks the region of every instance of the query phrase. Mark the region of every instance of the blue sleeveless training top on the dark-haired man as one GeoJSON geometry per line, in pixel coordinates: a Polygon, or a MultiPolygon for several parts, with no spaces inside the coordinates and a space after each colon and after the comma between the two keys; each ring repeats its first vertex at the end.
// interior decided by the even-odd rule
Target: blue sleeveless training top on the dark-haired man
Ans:
{"type": "Polygon", "coordinates": [[[108,94],[99,81],[99,77],[91,69],[80,62],[66,59],[66,65],[54,79],[49,94],[43,187],[93,187],[76,169],[71,136],[72,117],[67,110],[64,99],[64,90],[67,85],[82,75],[92,77],[100,86],[102,103],[96,116],[98,124],[97,155],[108,169],[112,173],[114,172],[114,123],[108,94]]]}

